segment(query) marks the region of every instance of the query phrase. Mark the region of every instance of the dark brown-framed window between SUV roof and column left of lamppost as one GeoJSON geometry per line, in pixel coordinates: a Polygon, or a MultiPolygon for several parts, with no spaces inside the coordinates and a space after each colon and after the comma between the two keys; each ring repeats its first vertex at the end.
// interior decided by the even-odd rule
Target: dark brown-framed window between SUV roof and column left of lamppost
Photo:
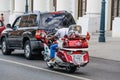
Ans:
{"type": "Polygon", "coordinates": [[[82,17],[86,13],[87,0],[78,0],[78,17],[82,17]]]}

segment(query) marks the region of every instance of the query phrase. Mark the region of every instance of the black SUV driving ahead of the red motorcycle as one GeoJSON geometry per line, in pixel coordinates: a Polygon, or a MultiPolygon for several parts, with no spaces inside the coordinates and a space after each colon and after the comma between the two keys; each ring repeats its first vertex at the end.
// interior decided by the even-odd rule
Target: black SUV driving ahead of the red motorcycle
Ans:
{"type": "Polygon", "coordinates": [[[32,59],[33,54],[41,54],[43,50],[42,41],[35,37],[39,30],[55,33],[61,25],[69,27],[72,24],[75,21],[66,11],[34,12],[18,16],[13,25],[7,24],[1,34],[2,53],[10,55],[15,49],[24,49],[26,59],[32,59]]]}

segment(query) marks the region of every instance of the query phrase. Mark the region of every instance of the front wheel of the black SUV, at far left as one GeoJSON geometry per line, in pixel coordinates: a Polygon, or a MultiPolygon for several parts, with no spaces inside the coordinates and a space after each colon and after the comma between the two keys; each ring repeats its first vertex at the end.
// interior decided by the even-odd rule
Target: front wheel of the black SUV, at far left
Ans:
{"type": "Polygon", "coordinates": [[[1,50],[4,55],[10,55],[12,50],[7,48],[6,39],[2,39],[1,50]]]}

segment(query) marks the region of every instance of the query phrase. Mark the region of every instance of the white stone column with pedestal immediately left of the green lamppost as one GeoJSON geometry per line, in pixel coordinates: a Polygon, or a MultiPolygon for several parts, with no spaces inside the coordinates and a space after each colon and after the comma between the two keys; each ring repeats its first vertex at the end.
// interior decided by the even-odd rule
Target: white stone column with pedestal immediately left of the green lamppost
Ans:
{"type": "Polygon", "coordinates": [[[77,24],[82,26],[83,34],[97,32],[100,29],[102,0],[87,0],[86,15],[79,17],[77,24]]]}

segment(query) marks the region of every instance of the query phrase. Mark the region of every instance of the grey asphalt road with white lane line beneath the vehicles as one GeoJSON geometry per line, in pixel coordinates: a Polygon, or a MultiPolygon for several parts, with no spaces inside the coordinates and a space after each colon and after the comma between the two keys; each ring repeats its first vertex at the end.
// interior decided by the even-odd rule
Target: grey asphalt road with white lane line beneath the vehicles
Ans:
{"type": "Polygon", "coordinates": [[[120,80],[120,62],[90,57],[90,63],[75,73],[49,70],[40,59],[26,60],[23,51],[5,56],[0,51],[0,80],[120,80]]]}

